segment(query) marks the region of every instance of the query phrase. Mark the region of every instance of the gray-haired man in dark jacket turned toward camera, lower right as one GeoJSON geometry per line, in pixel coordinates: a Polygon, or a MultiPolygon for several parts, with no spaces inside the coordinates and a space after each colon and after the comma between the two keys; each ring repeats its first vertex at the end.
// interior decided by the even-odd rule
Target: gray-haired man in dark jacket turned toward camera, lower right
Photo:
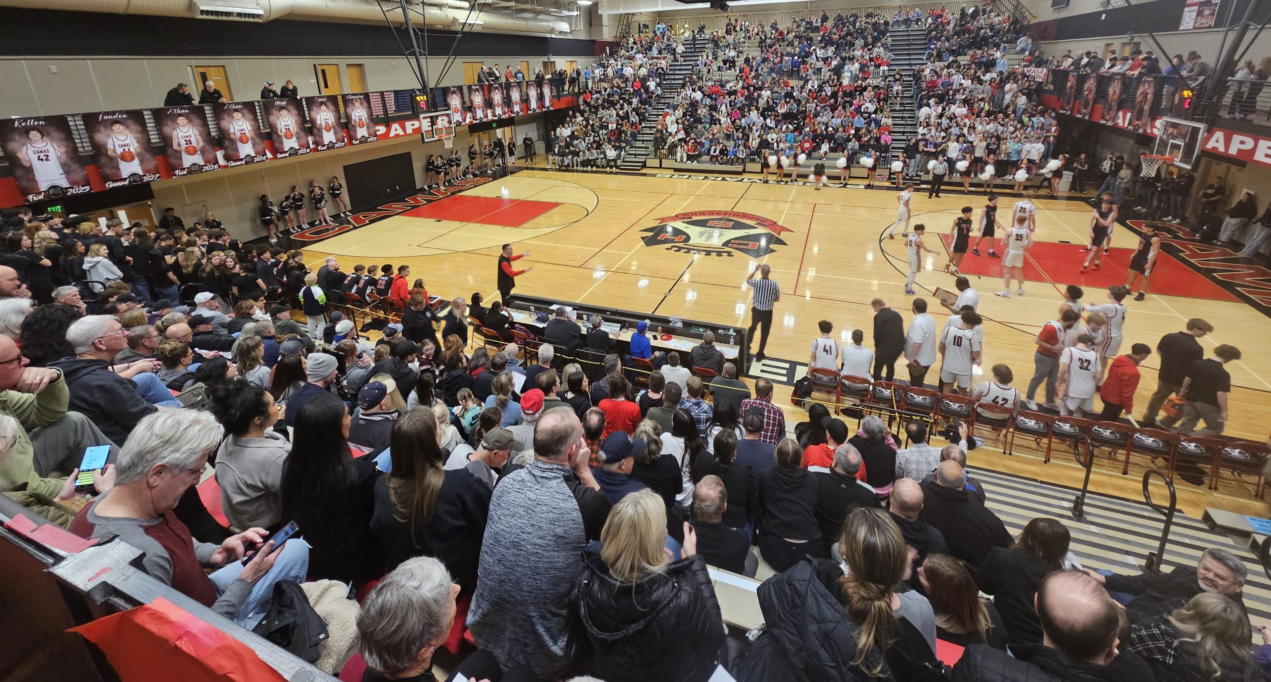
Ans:
{"type": "Polygon", "coordinates": [[[1178,566],[1169,573],[1140,575],[1115,575],[1089,569],[1085,573],[1107,588],[1113,599],[1125,604],[1131,625],[1166,617],[1202,592],[1216,592],[1235,602],[1240,611],[1247,611],[1244,581],[1248,569],[1239,557],[1218,547],[1201,552],[1196,567],[1178,566]]]}

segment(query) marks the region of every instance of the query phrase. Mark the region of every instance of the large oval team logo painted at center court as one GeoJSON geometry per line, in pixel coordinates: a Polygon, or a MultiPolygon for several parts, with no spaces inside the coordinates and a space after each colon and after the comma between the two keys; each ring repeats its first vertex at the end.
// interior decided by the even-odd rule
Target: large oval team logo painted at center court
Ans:
{"type": "Polygon", "coordinates": [[[793,232],[766,218],[736,211],[690,211],[658,221],[641,230],[644,246],[703,256],[732,257],[733,252],[741,252],[759,258],[784,247],[785,240],[779,235],[793,232]]]}

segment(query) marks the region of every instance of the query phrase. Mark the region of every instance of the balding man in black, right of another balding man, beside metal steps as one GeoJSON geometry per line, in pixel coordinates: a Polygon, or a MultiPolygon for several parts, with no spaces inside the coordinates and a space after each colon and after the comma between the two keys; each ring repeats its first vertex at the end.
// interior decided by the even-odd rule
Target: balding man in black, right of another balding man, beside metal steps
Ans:
{"type": "Polygon", "coordinates": [[[921,518],[944,536],[949,555],[979,570],[989,551],[1010,546],[1002,519],[966,490],[966,473],[957,462],[942,462],[923,492],[921,518]]]}

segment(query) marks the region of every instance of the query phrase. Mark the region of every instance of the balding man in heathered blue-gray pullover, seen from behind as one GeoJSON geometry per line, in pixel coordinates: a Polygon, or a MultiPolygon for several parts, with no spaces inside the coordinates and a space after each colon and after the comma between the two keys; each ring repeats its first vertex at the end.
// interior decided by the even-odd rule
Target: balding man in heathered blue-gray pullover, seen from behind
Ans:
{"type": "Polygon", "coordinates": [[[559,676],[574,655],[571,595],[611,508],[588,459],[578,415],[548,410],[534,461],[505,476],[489,503],[468,627],[478,646],[539,678],[559,676]]]}

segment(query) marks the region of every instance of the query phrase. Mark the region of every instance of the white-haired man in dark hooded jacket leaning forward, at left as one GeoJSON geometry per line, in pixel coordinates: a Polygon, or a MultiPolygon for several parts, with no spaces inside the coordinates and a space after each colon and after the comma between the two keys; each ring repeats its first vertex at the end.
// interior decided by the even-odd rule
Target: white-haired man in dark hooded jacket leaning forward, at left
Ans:
{"type": "Polygon", "coordinates": [[[158,407],[180,407],[172,392],[154,373],[159,360],[137,360],[111,366],[125,347],[127,330],[114,316],[86,316],[66,330],[74,358],[53,360],[48,366],[62,370],[70,389],[70,408],[84,414],[112,442],[123,444],[142,417],[158,407]]]}

